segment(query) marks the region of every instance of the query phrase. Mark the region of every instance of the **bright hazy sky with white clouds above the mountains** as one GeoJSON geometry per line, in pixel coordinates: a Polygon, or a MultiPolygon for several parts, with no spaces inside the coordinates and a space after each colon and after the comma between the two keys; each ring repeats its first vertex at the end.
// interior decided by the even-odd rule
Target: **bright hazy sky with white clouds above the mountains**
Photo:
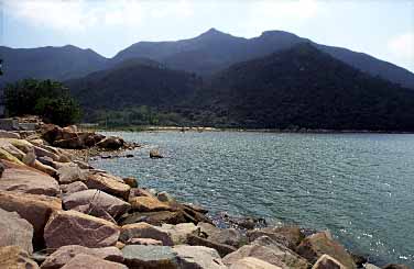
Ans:
{"type": "Polygon", "coordinates": [[[283,30],[414,71],[414,0],[0,0],[1,45],[73,44],[112,57],[139,41],[210,27],[253,37],[283,30]]]}

